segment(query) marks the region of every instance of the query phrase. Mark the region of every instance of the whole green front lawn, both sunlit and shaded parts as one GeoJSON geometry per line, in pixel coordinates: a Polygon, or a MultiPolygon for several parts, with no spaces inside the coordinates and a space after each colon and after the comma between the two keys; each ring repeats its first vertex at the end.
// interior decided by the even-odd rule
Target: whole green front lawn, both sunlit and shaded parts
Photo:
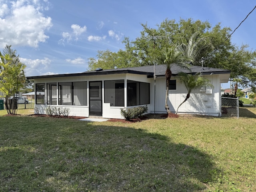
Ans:
{"type": "Polygon", "coordinates": [[[3,192],[256,191],[256,108],[239,119],[0,121],[3,192]]]}

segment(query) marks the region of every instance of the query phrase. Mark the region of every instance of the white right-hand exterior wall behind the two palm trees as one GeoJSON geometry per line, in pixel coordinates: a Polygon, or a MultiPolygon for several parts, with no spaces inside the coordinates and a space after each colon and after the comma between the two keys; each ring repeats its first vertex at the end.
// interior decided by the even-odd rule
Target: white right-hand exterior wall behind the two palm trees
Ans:
{"type": "MultiPolygon", "coordinates": [[[[220,80],[218,75],[204,76],[213,84],[214,88],[206,88],[205,91],[194,90],[190,98],[178,109],[178,114],[204,114],[219,116],[220,112],[220,80]]],[[[175,79],[175,78],[172,78],[175,79]]],[[[156,113],[166,113],[165,110],[166,83],[165,78],[156,78],[156,113]]],[[[178,106],[184,101],[187,90],[184,85],[176,80],[176,90],[169,90],[168,105],[175,113],[178,106]]],[[[151,113],[154,113],[154,80],[151,83],[151,113]]]]}

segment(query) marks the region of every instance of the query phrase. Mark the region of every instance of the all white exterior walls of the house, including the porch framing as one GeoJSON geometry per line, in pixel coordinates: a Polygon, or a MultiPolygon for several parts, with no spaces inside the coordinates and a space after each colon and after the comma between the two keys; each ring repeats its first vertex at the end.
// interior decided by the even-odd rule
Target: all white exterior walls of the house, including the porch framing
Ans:
{"type": "MultiPolygon", "coordinates": [[[[206,91],[194,90],[190,94],[190,98],[180,106],[178,114],[204,114],[211,116],[219,116],[220,112],[220,79],[218,75],[204,76],[211,80],[214,88],[206,88],[206,91]]],[[[172,78],[175,79],[175,78],[172,78]]],[[[102,117],[103,118],[123,118],[120,115],[120,109],[124,107],[110,106],[110,103],[104,103],[104,80],[124,80],[124,107],[127,107],[126,98],[126,82],[133,80],[138,82],[150,83],[150,104],[148,104],[148,113],[166,113],[165,94],[166,84],[165,78],[156,78],[156,86],[154,86],[154,78],[147,78],[146,75],[138,74],[113,74],[113,75],[95,75],[95,76],[79,76],[65,78],[46,78],[36,79],[38,83],[55,83],[55,82],[79,82],[87,81],[87,95],[89,95],[89,82],[102,81],[102,117]],[[154,99],[154,88],[156,87],[156,100],[154,99]]],[[[176,90],[169,90],[168,105],[170,110],[175,113],[180,103],[186,98],[187,90],[184,85],[176,80],[176,90]]],[[[45,101],[46,102],[46,101],[45,101]]],[[[40,110],[40,113],[46,114],[45,108],[47,105],[35,105],[40,110]]],[[[54,106],[54,105],[51,105],[54,106]]],[[[87,97],[87,106],[70,106],[56,105],[58,107],[66,107],[70,109],[70,116],[89,116],[89,96],[87,97]]],[[[132,106],[134,107],[134,106],[132,106]]]]}

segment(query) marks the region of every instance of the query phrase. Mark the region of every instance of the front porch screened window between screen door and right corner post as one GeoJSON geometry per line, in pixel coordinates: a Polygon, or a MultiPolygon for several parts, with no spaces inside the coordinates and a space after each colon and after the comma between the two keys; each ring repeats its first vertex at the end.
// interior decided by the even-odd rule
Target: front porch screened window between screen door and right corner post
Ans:
{"type": "Polygon", "coordinates": [[[104,81],[104,103],[124,107],[124,80],[104,81]]]}

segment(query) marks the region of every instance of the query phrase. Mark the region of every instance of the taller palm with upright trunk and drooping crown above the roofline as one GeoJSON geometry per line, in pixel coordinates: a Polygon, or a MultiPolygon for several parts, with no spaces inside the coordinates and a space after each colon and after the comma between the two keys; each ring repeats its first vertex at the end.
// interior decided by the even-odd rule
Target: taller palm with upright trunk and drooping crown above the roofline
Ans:
{"type": "Polygon", "coordinates": [[[169,92],[169,83],[170,78],[172,76],[171,68],[172,66],[180,66],[181,68],[190,68],[190,65],[188,64],[188,60],[186,59],[182,52],[178,50],[177,45],[172,45],[169,48],[166,48],[162,55],[162,61],[166,66],[166,72],[165,72],[165,78],[166,78],[166,95],[165,95],[165,109],[167,111],[167,114],[171,114],[171,111],[169,110],[168,106],[168,92],[169,92]]]}

